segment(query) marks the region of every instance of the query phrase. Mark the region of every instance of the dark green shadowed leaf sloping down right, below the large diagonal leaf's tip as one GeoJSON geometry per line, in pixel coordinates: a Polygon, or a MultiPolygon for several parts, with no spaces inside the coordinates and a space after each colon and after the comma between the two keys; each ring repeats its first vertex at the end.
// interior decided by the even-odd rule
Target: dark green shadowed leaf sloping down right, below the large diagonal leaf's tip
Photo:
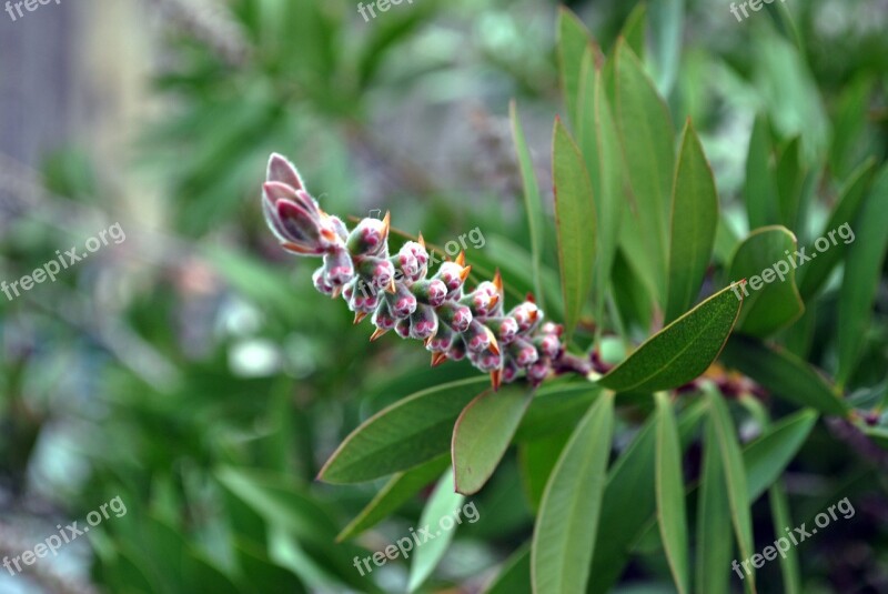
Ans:
{"type": "Polygon", "coordinates": [[[757,340],[733,336],[722,356],[726,364],[755,380],[768,392],[800,406],[844,416],[847,404],[808,363],[757,340]]]}

